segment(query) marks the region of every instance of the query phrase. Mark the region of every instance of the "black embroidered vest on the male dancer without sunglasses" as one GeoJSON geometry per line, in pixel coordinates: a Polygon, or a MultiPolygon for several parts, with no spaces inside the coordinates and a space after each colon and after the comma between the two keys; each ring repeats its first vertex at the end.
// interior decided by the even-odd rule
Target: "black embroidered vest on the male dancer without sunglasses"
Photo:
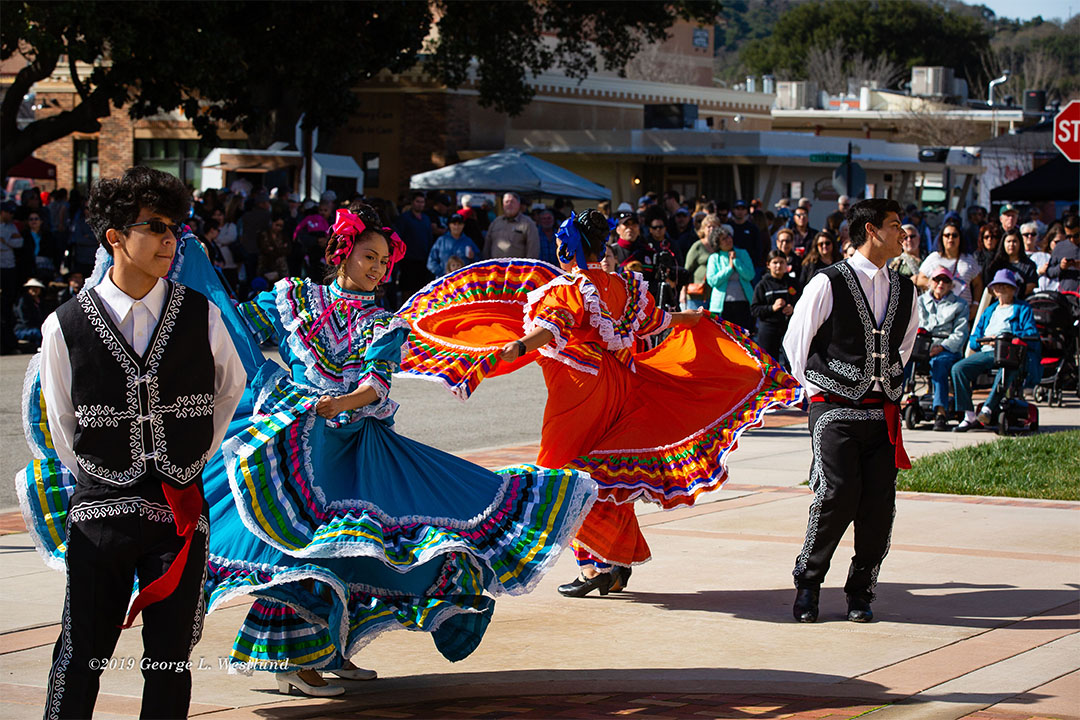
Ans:
{"type": "Polygon", "coordinates": [[[847,261],[821,271],[833,288],[833,312],[810,342],[807,380],[822,390],[858,400],[881,382],[886,396],[900,399],[904,366],[900,347],[912,316],[915,287],[889,270],[889,302],[879,328],[855,270],[847,261]]]}

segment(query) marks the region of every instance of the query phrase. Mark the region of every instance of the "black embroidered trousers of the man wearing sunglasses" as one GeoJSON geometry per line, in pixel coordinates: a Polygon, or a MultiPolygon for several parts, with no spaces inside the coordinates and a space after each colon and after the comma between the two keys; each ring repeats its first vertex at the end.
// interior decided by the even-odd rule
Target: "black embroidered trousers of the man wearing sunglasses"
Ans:
{"type": "Polygon", "coordinates": [[[146,587],[168,569],[184,545],[160,487],[146,495],[102,498],[80,488],[71,498],[67,597],[49,673],[46,720],[92,717],[107,667],[141,670],[141,718],[188,715],[188,658],[202,635],[205,612],[205,505],[176,590],[143,610],[143,657],[113,656],[135,576],[139,587],[146,587]]]}

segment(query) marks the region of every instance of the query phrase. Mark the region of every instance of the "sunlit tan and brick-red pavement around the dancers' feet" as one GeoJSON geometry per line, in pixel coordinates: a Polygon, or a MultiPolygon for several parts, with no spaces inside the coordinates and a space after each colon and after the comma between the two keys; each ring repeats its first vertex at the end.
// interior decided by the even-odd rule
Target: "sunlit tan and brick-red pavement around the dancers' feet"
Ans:
{"type": "MultiPolygon", "coordinates": [[[[21,358],[0,359],[4,462],[17,464],[21,378],[14,386],[11,368],[21,358]]],[[[486,382],[465,405],[421,382],[397,382],[394,396],[407,435],[491,467],[535,458],[543,402],[535,368],[486,382]]],[[[1042,409],[1042,425],[1080,424],[1078,409],[1075,396],[1064,409],[1042,409]]],[[[913,457],[993,437],[905,433],[913,457]]],[[[248,604],[237,600],[207,617],[193,654],[202,669],[191,714],[1080,718],[1080,503],[901,493],[877,620],[845,620],[849,532],[821,620],[799,625],[791,568],[806,528],[809,457],[806,416],[770,415],[744,436],[723,491],[692,508],[639,506],[653,559],[635,569],[626,592],[561,597],[555,586],[576,573],[567,553],[536,592],[499,598],[467,660],[446,662],[424,634],[390,633],[355,657],[380,679],[346,683],[338,698],[287,697],[268,674],[221,669],[248,604]]],[[[0,514],[0,718],[40,717],[64,576],[43,566],[11,503],[0,507],[9,511],[0,514]]],[[[139,649],[130,630],[116,656],[138,657],[139,649]]],[[[137,671],[106,671],[96,717],[136,717],[140,687],[137,671]]]]}

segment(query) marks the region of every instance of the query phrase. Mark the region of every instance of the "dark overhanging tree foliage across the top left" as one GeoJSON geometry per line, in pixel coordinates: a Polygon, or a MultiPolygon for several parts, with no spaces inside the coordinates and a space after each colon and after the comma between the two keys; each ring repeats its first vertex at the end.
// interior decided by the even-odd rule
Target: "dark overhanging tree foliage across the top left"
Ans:
{"type": "Polygon", "coordinates": [[[676,19],[712,25],[719,9],[717,0],[6,2],[0,57],[21,53],[28,64],[0,105],[0,172],[46,142],[98,131],[110,106],[133,118],[179,107],[206,137],[225,123],[259,144],[292,139],[301,114],[309,128],[339,125],[359,81],[418,62],[451,87],[474,78],[481,103],[518,113],[532,97],[529,74],[621,69],[676,19]],[[93,70],[81,77],[77,60],[93,70]],[[24,95],[60,63],[79,103],[19,127],[24,95]]]}

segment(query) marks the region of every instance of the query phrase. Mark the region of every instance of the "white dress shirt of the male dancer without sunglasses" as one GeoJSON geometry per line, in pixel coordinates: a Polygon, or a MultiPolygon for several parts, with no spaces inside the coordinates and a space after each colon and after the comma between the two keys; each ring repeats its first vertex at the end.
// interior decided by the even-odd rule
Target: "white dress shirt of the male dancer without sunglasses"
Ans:
{"type": "MultiPolygon", "coordinates": [[[[889,270],[878,268],[869,261],[862,253],[855,253],[847,260],[855,277],[863,288],[863,293],[870,303],[870,311],[874,313],[874,321],[878,327],[885,321],[886,311],[889,308],[889,270]]],[[[900,282],[910,282],[901,277],[900,282]]],[[[784,353],[787,362],[792,366],[792,375],[798,380],[807,392],[811,395],[825,392],[806,378],[807,355],[810,352],[810,342],[818,335],[818,329],[829,315],[833,314],[833,285],[828,282],[825,273],[819,272],[810,279],[802,289],[802,297],[795,303],[795,311],[787,324],[787,332],[784,335],[784,353]]],[[[904,332],[904,341],[900,345],[900,363],[907,364],[907,358],[912,354],[912,345],[915,343],[915,335],[919,329],[918,296],[912,294],[912,313],[907,323],[907,330],[904,332]]],[[[874,391],[881,391],[881,383],[875,382],[874,391]]]]}

